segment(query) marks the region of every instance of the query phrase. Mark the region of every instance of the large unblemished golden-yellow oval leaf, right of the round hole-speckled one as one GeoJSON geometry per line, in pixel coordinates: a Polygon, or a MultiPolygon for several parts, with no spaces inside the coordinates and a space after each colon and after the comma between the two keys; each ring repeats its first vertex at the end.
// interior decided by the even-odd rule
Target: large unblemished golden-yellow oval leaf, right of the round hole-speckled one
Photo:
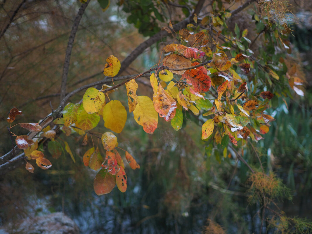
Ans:
{"type": "Polygon", "coordinates": [[[120,133],[127,120],[127,111],[119,100],[111,100],[104,106],[103,119],[105,128],[120,133]]]}

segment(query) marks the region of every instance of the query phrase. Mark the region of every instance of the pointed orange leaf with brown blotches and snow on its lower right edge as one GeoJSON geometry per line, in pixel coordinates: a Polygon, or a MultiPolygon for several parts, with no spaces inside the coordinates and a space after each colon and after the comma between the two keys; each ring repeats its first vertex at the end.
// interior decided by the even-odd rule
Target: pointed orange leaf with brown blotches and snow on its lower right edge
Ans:
{"type": "Polygon", "coordinates": [[[165,92],[163,87],[159,84],[157,93],[153,95],[153,103],[155,110],[166,121],[170,121],[175,116],[177,103],[176,101],[165,92]]]}

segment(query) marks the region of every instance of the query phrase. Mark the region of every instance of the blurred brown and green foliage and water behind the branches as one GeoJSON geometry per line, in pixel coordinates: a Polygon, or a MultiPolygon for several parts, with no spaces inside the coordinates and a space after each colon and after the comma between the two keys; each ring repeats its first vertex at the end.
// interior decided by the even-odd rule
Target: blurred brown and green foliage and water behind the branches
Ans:
{"type": "MultiPolygon", "coordinates": [[[[125,1],[123,7],[111,3],[104,13],[97,1],[90,2],[75,38],[68,89],[100,80],[103,64],[110,54],[122,61],[133,45],[144,41],[141,34],[150,36],[159,31],[159,22],[171,16],[158,15],[162,12],[161,5],[153,2],[125,1]],[[147,21],[146,15],[153,18],[149,25],[142,23],[147,21]]],[[[14,9],[18,3],[1,4],[3,28],[6,10],[14,9]]],[[[295,14],[300,7],[294,7],[295,14]]],[[[6,129],[7,112],[12,107],[24,112],[21,117],[24,122],[33,122],[51,111],[50,101],[54,107],[58,104],[64,54],[78,8],[76,1],[27,1],[20,17],[1,39],[1,154],[12,148],[6,129]],[[46,95],[51,96],[41,98],[46,95]]],[[[183,8],[178,16],[187,14],[183,8]]],[[[277,100],[280,108],[268,110],[276,121],[271,123],[266,138],[259,141],[257,148],[248,142],[249,147],[242,153],[254,168],[260,167],[254,156],[258,154],[265,171],[273,171],[290,188],[292,200],[275,201],[282,211],[291,217],[312,218],[312,94],[308,76],[312,68],[310,61],[305,60],[311,51],[312,27],[305,22],[294,26],[294,36],[290,35],[292,50],[300,55],[294,59],[307,74],[305,97],[288,98],[285,103],[277,100]],[[304,33],[300,33],[300,28],[304,33]]],[[[158,46],[144,51],[125,74],[136,74],[154,66],[159,59],[158,46]]],[[[138,95],[152,95],[146,84],[148,80],[141,78],[138,95]]],[[[74,96],[71,102],[79,101],[81,95],[74,96]]],[[[111,98],[127,105],[124,87],[111,98]]],[[[30,174],[19,168],[0,178],[0,225],[63,211],[74,219],[81,233],[222,233],[223,230],[226,230],[223,233],[259,233],[260,205],[249,204],[246,195],[249,169],[232,158],[222,158],[217,150],[215,154],[206,154],[206,143],[197,134],[198,120],[190,115],[185,117],[189,121],[184,122],[180,131],[160,121],[153,135],[146,134],[133,118],[128,118],[122,134],[117,134],[119,147],[133,154],[141,168],[134,171],[126,168],[126,193],[114,189],[100,197],[92,187],[95,172],[82,163],[88,148],[74,147],[81,141],[80,136],[62,134],[61,138],[75,149],[76,163],[69,155],[62,155],[58,160],[49,158],[51,170],[37,168],[30,174]]],[[[104,126],[99,131],[104,132],[104,126]]],[[[24,133],[18,129],[14,132],[24,133]]],[[[41,148],[49,155],[46,144],[41,148]]],[[[268,233],[274,231],[272,228],[268,233]]]]}

